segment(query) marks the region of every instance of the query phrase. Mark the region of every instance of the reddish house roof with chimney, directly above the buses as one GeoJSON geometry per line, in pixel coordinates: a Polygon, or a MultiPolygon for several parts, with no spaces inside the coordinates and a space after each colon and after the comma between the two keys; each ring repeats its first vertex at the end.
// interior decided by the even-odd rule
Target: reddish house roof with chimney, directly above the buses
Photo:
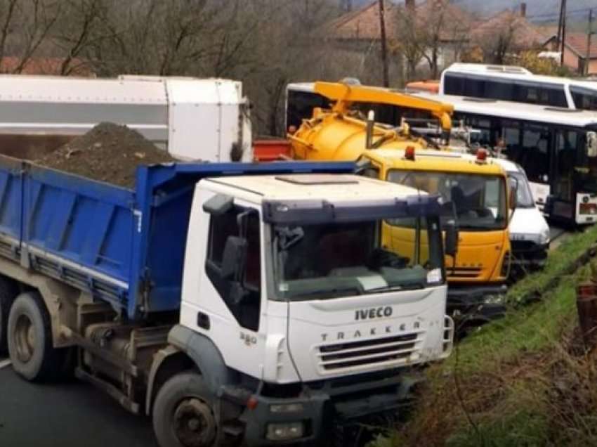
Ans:
{"type": "Polygon", "coordinates": [[[513,30],[513,44],[515,46],[530,48],[544,42],[545,36],[537,27],[532,25],[526,18],[509,9],[501,11],[496,15],[480,23],[471,32],[471,41],[480,39],[491,39],[500,32],[513,30]]]}

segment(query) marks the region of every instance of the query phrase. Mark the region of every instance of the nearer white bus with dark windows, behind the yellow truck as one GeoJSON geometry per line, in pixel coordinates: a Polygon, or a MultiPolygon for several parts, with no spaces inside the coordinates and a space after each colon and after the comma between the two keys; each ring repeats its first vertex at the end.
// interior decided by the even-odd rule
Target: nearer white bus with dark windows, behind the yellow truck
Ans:
{"type": "Polygon", "coordinates": [[[520,164],[537,205],[569,224],[597,222],[597,113],[450,95],[417,96],[454,105],[454,119],[520,164]]]}

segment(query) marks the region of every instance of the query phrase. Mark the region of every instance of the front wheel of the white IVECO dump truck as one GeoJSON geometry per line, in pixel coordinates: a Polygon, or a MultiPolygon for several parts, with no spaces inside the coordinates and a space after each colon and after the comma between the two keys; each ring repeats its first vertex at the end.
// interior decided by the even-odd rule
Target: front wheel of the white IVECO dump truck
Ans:
{"type": "Polygon", "coordinates": [[[196,372],[181,372],[168,380],[153,406],[153,429],[159,446],[215,446],[218,423],[213,402],[203,377],[196,372]]]}

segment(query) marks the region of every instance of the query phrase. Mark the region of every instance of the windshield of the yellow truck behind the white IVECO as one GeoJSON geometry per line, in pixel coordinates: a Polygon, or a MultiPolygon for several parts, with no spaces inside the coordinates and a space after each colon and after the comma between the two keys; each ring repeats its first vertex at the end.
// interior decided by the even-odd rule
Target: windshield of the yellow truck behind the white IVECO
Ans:
{"type": "Polygon", "coordinates": [[[387,180],[441,195],[446,216],[455,213],[461,230],[506,228],[506,185],[500,176],[392,169],[387,180]]]}

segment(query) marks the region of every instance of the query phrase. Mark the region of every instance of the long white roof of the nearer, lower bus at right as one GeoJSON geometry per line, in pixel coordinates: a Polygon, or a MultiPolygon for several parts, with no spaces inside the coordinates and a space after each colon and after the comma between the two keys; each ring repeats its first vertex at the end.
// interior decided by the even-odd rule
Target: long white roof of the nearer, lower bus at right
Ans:
{"type": "Polygon", "coordinates": [[[466,98],[465,96],[436,95],[414,93],[415,96],[454,105],[454,112],[468,112],[477,115],[489,115],[508,119],[565,124],[585,127],[597,124],[597,113],[590,110],[572,110],[549,105],[512,103],[485,98],[466,98]]]}

